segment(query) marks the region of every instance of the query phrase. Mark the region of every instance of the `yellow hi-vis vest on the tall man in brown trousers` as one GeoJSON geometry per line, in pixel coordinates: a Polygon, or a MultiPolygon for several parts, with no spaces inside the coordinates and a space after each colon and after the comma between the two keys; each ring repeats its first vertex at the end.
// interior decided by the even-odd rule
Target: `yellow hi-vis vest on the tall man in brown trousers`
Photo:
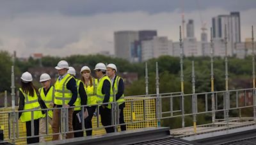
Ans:
{"type": "Polygon", "coordinates": [[[72,92],[67,89],[68,81],[73,78],[70,74],[67,74],[64,78],[60,81],[57,79],[55,86],[55,93],[54,93],[54,104],[56,105],[63,105],[68,104],[72,97],[72,92]]]}

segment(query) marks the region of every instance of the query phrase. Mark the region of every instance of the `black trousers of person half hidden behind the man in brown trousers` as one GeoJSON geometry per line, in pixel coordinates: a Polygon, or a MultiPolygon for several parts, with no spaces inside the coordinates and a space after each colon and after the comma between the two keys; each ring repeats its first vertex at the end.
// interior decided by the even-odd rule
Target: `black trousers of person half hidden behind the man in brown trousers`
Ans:
{"type": "MultiPolygon", "coordinates": [[[[73,113],[73,120],[72,120],[72,125],[73,125],[73,130],[81,130],[82,129],[82,123],[79,123],[79,120],[76,116],[76,113],[79,113],[81,110],[74,111],[73,113]]],[[[84,132],[74,132],[74,137],[83,137],[84,132]]]]}

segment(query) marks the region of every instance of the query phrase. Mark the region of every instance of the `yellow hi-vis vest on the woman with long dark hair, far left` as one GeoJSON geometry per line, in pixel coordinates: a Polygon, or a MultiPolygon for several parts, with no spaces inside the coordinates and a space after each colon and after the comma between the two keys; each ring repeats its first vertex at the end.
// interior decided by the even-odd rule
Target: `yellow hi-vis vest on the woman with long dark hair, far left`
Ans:
{"type": "MultiPolygon", "coordinates": [[[[40,104],[38,102],[38,96],[36,95],[36,90],[34,89],[34,96],[29,95],[29,93],[24,93],[22,88],[20,88],[20,92],[22,92],[22,94],[25,97],[24,100],[24,110],[38,110],[41,109],[40,104]]],[[[22,122],[26,122],[26,121],[31,121],[31,114],[32,111],[26,111],[26,112],[22,112],[21,116],[20,116],[20,121],[22,122]]],[[[39,118],[42,118],[43,114],[42,111],[33,111],[33,118],[34,120],[37,120],[39,118]]]]}

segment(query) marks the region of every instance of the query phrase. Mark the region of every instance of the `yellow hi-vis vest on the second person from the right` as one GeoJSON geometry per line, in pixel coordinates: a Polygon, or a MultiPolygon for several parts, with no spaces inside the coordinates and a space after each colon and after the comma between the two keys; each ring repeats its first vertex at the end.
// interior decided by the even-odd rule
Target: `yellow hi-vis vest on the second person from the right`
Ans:
{"type": "MultiPolygon", "coordinates": [[[[111,81],[110,79],[108,78],[108,76],[103,76],[100,81],[98,82],[98,86],[97,86],[97,92],[96,92],[96,95],[97,95],[97,103],[100,104],[103,102],[104,100],[104,97],[105,97],[105,94],[102,94],[102,86],[103,86],[103,83],[105,80],[108,80],[109,81],[109,84],[110,84],[110,96],[109,96],[109,100],[108,102],[113,102],[113,90],[112,90],[112,86],[111,86],[111,81]]],[[[111,109],[111,104],[108,104],[107,106],[109,109],[111,109]]]]}

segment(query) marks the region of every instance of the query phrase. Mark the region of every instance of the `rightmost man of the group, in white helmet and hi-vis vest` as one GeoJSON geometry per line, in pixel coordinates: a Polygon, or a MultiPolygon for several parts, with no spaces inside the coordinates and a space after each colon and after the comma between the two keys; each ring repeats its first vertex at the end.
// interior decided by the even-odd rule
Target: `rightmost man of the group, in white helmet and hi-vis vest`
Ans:
{"type": "MultiPolygon", "coordinates": [[[[107,75],[111,79],[111,85],[113,88],[113,93],[116,96],[116,102],[118,102],[119,106],[119,124],[123,124],[124,122],[124,80],[116,75],[117,68],[115,64],[108,64],[107,66],[107,75]]],[[[113,94],[110,94],[113,95],[113,94]]],[[[121,125],[121,130],[126,130],[126,125],[121,125]]]]}

